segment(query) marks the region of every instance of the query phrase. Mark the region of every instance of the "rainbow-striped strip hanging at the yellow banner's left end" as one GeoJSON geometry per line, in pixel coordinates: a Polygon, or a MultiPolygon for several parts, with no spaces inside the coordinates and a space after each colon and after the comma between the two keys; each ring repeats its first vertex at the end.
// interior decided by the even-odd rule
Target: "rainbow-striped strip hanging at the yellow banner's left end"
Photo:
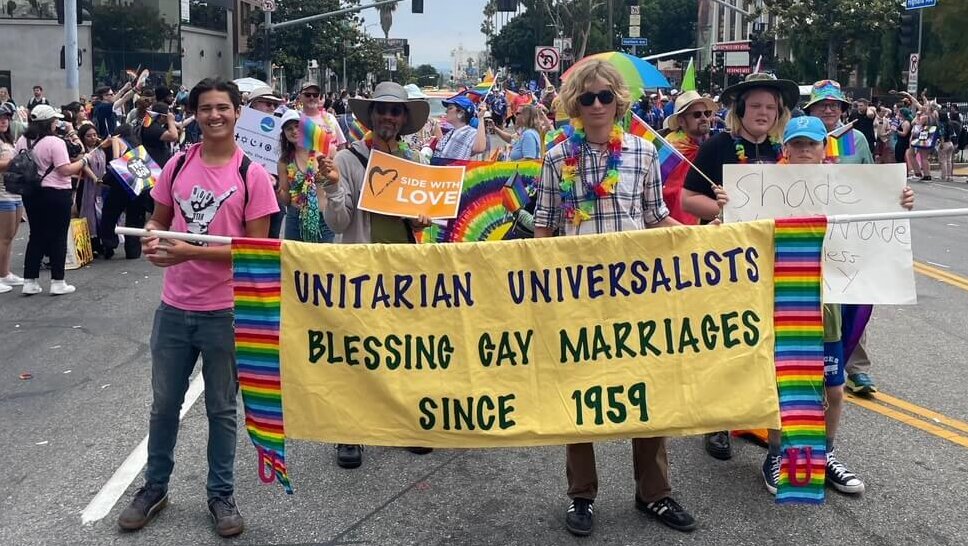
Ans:
{"type": "Polygon", "coordinates": [[[279,367],[281,248],[276,239],[232,239],[232,289],[239,388],[259,477],[263,483],[279,481],[292,494],[279,367]]]}

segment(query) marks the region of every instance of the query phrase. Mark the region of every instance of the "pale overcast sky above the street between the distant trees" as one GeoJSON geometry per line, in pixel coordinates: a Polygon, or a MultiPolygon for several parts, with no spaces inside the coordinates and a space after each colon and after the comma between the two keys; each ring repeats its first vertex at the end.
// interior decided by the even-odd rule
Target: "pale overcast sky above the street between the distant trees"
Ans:
{"type": "MultiPolygon", "coordinates": [[[[484,50],[484,35],[481,34],[484,1],[424,0],[424,12],[415,14],[411,13],[411,0],[404,0],[393,14],[390,37],[410,40],[413,66],[449,67],[450,52],[459,45],[470,51],[484,50]]],[[[376,10],[364,11],[363,19],[367,33],[383,36],[376,10]]]]}

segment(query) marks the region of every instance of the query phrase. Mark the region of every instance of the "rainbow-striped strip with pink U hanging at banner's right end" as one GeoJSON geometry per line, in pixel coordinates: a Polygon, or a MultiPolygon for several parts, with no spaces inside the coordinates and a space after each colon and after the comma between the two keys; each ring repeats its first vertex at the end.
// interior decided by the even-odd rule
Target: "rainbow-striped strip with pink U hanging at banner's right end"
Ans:
{"type": "Polygon", "coordinates": [[[774,229],[774,360],[783,456],[777,503],[819,504],[824,498],[821,252],[827,219],[777,219],[774,229]]]}

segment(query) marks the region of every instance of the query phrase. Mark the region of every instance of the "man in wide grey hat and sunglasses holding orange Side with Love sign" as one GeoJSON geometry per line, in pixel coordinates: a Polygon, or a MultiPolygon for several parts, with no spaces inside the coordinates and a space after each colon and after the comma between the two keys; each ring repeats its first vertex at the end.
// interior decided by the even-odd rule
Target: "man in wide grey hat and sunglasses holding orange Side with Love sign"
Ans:
{"type": "MultiPolygon", "coordinates": [[[[363,190],[363,179],[370,159],[370,151],[416,160],[403,136],[419,131],[430,116],[430,103],[426,99],[411,99],[402,85],[381,82],[369,99],[349,100],[353,115],[369,131],[361,140],[354,141],[336,154],[339,182],[327,183],[326,207],[323,219],[334,232],[343,235],[344,244],[366,243],[413,243],[414,231],[430,225],[428,218],[398,218],[371,213],[356,208],[363,190]]],[[[410,451],[429,453],[428,448],[410,448],[410,451]]],[[[336,446],[336,463],[343,468],[356,468],[363,463],[363,446],[339,444],[336,446]]]]}

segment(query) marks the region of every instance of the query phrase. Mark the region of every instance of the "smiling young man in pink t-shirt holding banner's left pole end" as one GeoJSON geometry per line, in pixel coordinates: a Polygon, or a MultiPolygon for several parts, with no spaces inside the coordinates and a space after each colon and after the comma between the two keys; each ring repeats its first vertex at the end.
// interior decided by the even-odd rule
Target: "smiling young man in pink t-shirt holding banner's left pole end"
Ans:
{"type": "MultiPolygon", "coordinates": [[[[202,143],[165,165],[151,191],[155,210],[145,229],[268,235],[269,217],[279,206],[266,170],[248,161],[243,168],[244,154],[235,145],[241,105],[242,94],[232,82],[206,79],[192,89],[188,108],[202,129],[202,143]]],[[[153,402],[145,485],[118,525],[140,529],[168,504],[178,414],[201,355],[209,429],[208,509],[216,532],[235,536],[243,521],[233,498],[238,378],[231,249],[156,237],[143,238],[141,247],[148,261],[165,268],[165,276],[151,333],[153,402]]]]}

